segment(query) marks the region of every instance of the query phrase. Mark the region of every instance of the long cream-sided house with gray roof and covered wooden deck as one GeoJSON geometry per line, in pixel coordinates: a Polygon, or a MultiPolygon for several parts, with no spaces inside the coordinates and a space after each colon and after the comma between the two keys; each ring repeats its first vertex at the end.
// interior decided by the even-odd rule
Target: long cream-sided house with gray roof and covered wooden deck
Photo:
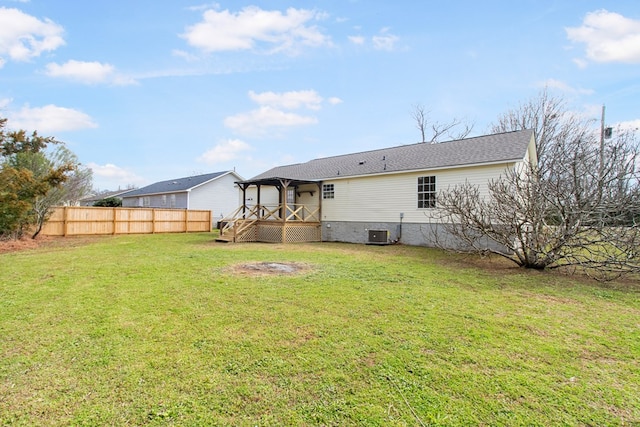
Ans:
{"type": "Polygon", "coordinates": [[[525,162],[537,162],[532,130],[276,167],[238,183],[242,216],[228,219],[221,240],[433,245],[438,191],[469,182],[486,194],[525,162]]]}

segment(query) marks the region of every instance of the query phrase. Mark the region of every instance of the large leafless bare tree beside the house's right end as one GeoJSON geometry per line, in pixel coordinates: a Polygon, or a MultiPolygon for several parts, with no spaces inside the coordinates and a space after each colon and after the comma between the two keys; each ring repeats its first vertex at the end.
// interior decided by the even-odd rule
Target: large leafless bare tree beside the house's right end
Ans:
{"type": "Polygon", "coordinates": [[[581,266],[600,277],[640,272],[640,148],[635,131],[600,129],[546,91],[502,116],[494,130],[538,126],[537,165],[488,184],[438,195],[457,249],[494,253],[517,265],[581,266]],[[541,114],[542,117],[536,117],[541,114]]]}

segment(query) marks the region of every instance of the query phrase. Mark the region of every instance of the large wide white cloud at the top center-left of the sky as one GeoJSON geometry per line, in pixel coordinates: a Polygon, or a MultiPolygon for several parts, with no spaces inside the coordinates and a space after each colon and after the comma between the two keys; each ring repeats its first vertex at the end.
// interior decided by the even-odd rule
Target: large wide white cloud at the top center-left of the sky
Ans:
{"type": "Polygon", "coordinates": [[[202,17],[201,22],[187,27],[181,37],[205,52],[262,47],[267,53],[296,54],[302,47],[330,45],[328,36],[309,25],[325,18],[313,10],[289,8],[282,13],[248,6],[236,13],[210,9],[202,17]]]}

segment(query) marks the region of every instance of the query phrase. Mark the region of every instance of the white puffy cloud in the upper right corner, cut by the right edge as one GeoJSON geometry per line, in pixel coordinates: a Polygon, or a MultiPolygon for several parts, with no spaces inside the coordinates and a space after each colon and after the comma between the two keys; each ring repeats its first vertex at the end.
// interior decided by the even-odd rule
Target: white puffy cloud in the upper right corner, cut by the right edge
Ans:
{"type": "Polygon", "coordinates": [[[591,61],[640,63],[640,20],[603,9],[587,13],[580,27],[565,30],[569,40],[586,44],[591,61]]]}

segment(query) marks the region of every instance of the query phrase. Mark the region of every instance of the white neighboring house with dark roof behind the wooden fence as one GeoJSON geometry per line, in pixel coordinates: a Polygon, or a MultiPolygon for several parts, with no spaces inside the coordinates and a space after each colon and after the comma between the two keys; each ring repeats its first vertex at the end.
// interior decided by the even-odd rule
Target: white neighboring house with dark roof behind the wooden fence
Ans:
{"type": "Polygon", "coordinates": [[[156,182],[122,195],[122,207],[150,207],[211,211],[212,219],[221,219],[241,203],[234,171],[215,172],[156,182]]]}

